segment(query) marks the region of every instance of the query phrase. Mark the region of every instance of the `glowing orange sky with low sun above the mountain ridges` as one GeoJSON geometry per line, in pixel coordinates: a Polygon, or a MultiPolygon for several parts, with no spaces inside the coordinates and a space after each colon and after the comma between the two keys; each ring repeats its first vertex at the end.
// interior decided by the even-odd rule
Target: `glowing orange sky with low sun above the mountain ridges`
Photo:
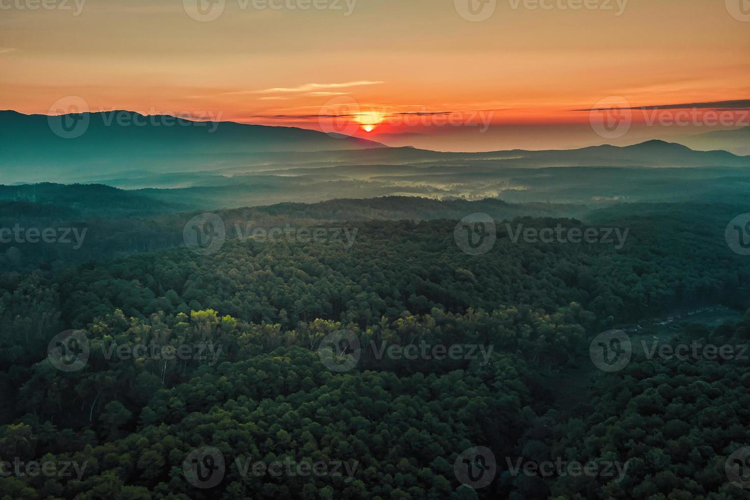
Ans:
{"type": "Polygon", "coordinates": [[[40,0],[0,0],[0,109],[48,113],[74,95],[90,110],[495,149],[511,125],[516,135],[585,125],[589,113],[572,110],[608,96],[632,106],[750,98],[750,20],[724,0],[586,0],[595,8],[580,10],[562,7],[584,0],[496,0],[480,22],[458,13],[469,0],[213,0],[223,10],[206,22],[188,15],[196,0],[77,1],[31,10],[40,0]],[[342,103],[353,111],[336,111],[342,103]],[[353,116],[327,118],[336,114],[353,116]],[[378,123],[368,134],[365,122],[378,123]],[[495,134],[469,137],[490,125],[495,134]]]}

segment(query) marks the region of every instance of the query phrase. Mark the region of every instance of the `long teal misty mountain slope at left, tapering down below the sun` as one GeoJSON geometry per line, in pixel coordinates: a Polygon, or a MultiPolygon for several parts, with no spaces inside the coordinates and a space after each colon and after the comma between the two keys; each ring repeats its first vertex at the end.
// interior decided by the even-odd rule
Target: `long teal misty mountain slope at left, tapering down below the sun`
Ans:
{"type": "Polygon", "coordinates": [[[62,116],[0,111],[2,182],[86,179],[127,170],[214,170],[268,152],[386,147],[291,127],[198,122],[131,111],[62,116]]]}

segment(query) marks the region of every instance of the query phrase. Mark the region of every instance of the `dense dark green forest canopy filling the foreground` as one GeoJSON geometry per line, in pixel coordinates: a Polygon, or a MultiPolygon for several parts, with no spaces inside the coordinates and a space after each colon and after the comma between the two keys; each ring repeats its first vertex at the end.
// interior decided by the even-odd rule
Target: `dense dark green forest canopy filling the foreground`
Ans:
{"type": "Polygon", "coordinates": [[[68,264],[50,250],[0,274],[0,459],[55,472],[4,469],[3,500],[750,498],[727,459],[750,442],[747,357],[633,342],[607,372],[589,353],[611,329],[746,345],[750,261],[724,241],[736,206],[583,221],[499,200],[282,204],[218,212],[228,234],[211,255],[179,244],[191,214],[128,206],[98,224],[118,244],[121,221],[148,226],[142,248],[68,264]],[[455,240],[476,208],[496,221],[483,255],[455,240]],[[353,237],[248,236],[239,221],[353,237]],[[520,225],[628,238],[514,241],[520,225]],[[706,308],[732,315],[663,326],[706,308]]]}

